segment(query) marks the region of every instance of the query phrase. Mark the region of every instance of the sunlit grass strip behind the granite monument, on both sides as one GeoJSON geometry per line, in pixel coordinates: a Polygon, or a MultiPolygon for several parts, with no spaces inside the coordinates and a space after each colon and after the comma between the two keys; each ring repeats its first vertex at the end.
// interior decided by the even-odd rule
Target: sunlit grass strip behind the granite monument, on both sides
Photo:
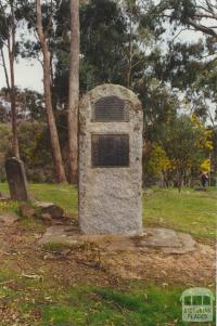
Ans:
{"type": "MultiPolygon", "coordinates": [[[[0,191],[8,192],[7,184],[0,191]]],[[[62,184],[30,184],[31,196],[37,200],[52,201],[66,212],[77,214],[77,190],[62,184]]],[[[16,203],[0,204],[0,212],[17,210],[16,203]]],[[[143,196],[143,223],[145,226],[169,227],[193,235],[197,240],[214,242],[217,223],[217,188],[207,192],[153,188],[143,196]]]]}

